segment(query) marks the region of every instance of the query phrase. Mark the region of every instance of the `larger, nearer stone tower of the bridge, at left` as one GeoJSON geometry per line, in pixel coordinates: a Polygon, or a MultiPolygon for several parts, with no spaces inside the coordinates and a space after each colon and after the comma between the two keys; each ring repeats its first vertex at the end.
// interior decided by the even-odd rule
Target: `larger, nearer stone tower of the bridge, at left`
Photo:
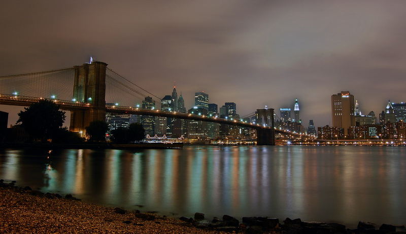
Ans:
{"type": "Polygon", "coordinates": [[[87,102],[89,108],[71,111],[72,132],[85,132],[90,122],[106,120],[106,67],[107,63],[97,61],[75,66],[72,100],[87,102]]]}

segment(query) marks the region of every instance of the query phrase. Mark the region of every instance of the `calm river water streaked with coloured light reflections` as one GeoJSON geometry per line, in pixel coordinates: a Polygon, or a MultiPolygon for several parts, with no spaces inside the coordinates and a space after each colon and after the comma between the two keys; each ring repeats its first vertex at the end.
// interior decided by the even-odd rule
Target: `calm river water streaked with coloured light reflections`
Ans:
{"type": "Polygon", "coordinates": [[[406,147],[0,151],[0,178],[160,214],[406,223],[406,147]],[[142,205],[142,208],[136,205],[142,205]]]}

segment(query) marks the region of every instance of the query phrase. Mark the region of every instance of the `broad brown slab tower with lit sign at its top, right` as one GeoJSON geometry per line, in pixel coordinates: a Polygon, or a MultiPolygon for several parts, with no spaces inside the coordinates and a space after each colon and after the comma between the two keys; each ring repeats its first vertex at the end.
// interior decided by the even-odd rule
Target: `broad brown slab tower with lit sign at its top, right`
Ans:
{"type": "Polygon", "coordinates": [[[354,95],[348,91],[331,95],[331,118],[333,127],[343,128],[344,135],[348,129],[355,126],[354,95]]]}

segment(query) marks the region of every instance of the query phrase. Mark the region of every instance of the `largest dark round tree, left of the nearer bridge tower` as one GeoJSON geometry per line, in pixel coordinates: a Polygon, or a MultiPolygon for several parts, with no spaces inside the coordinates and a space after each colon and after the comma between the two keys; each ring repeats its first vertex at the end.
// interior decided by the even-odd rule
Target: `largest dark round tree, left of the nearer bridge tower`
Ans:
{"type": "Polygon", "coordinates": [[[59,106],[49,100],[41,100],[25,107],[24,111],[18,113],[18,116],[17,124],[21,123],[30,139],[40,139],[41,141],[52,139],[66,118],[65,112],[59,110],[59,106]]]}

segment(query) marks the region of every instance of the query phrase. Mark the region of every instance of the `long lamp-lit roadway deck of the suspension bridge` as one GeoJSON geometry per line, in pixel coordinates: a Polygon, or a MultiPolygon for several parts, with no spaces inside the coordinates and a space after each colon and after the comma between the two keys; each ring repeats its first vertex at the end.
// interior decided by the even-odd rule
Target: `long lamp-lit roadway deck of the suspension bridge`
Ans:
{"type": "MultiPolygon", "coordinates": [[[[27,97],[27,96],[16,96],[9,94],[0,94],[0,105],[14,105],[14,106],[29,106],[32,103],[39,102],[40,100],[45,100],[46,98],[42,97],[27,97]]],[[[62,110],[78,110],[78,109],[88,109],[91,107],[90,103],[84,102],[74,102],[66,100],[57,100],[57,99],[47,99],[55,102],[59,105],[62,110]]],[[[270,129],[271,127],[262,126],[259,124],[245,123],[238,120],[227,120],[222,118],[211,117],[207,115],[198,115],[191,113],[181,113],[177,111],[163,111],[163,110],[153,110],[153,109],[143,109],[130,106],[116,106],[116,105],[106,105],[107,113],[116,113],[116,114],[138,114],[138,115],[150,115],[150,116],[161,116],[167,118],[177,118],[184,120],[197,120],[197,121],[206,121],[218,124],[228,124],[239,127],[246,127],[256,130],[261,129],[270,129]]],[[[275,133],[288,134],[295,137],[304,137],[312,138],[312,136],[307,134],[294,133],[291,131],[277,129],[275,128],[275,133]]]]}

